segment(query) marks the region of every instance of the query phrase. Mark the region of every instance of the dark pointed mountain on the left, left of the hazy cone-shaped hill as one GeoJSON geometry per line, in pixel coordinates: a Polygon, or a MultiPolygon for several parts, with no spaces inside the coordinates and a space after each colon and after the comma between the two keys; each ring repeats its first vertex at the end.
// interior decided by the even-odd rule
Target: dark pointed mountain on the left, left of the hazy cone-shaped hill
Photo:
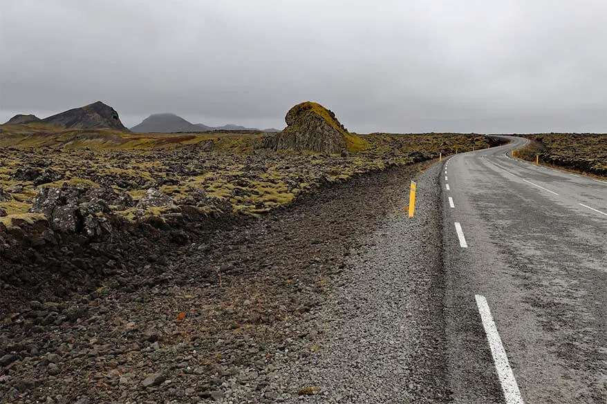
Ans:
{"type": "Polygon", "coordinates": [[[120,122],[120,117],[115,109],[100,101],[44,118],[41,123],[64,128],[108,128],[123,132],[129,131],[120,122]]]}

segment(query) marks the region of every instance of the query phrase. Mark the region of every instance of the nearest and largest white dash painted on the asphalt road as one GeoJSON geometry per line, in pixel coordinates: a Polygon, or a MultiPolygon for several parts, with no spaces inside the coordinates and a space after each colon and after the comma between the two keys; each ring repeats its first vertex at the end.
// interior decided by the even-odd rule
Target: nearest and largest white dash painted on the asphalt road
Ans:
{"type": "Polygon", "coordinates": [[[506,404],[523,404],[519,385],[516,384],[512,367],[510,367],[510,362],[508,362],[508,356],[502,345],[502,340],[491,315],[491,310],[489,310],[487,299],[481,295],[474,295],[474,298],[476,299],[480,319],[483,320],[483,327],[485,328],[485,334],[487,334],[487,341],[489,341],[497,375],[502,385],[505,402],[506,404]]]}

